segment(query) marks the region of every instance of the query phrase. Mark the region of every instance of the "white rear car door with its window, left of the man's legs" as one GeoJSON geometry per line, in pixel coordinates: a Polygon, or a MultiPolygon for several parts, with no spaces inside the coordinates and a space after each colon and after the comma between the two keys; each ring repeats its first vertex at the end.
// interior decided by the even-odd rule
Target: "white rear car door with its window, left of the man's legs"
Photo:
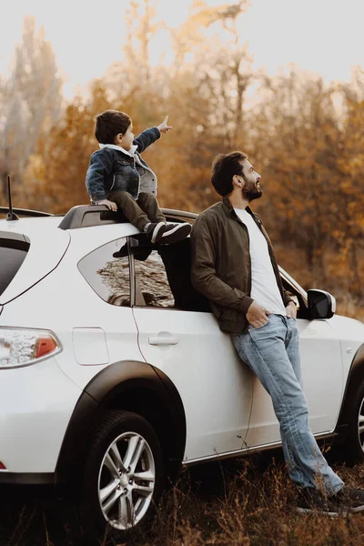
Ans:
{"type": "Polygon", "coordinates": [[[173,381],[187,419],[185,460],[241,450],[252,375],[189,280],[189,239],[132,257],[143,358],[173,381]],[[172,288],[172,289],[171,289],[172,288]]]}

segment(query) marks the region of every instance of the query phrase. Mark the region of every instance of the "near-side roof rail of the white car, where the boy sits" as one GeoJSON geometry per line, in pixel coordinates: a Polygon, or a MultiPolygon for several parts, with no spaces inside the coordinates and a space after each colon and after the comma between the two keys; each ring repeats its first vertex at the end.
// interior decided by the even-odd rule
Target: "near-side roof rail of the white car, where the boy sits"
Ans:
{"type": "MultiPolygon", "coordinates": [[[[162,208],[167,220],[176,222],[194,221],[197,214],[173,208],[162,208]]],[[[118,210],[113,212],[106,205],[77,205],[70,208],[59,224],[60,229],[77,229],[78,227],[106,226],[108,224],[126,223],[128,220],[118,210]]]]}

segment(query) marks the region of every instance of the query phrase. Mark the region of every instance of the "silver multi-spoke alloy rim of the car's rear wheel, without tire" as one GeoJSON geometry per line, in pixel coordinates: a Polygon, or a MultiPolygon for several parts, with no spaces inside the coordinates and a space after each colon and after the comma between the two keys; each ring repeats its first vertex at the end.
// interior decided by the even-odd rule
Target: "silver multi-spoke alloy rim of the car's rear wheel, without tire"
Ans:
{"type": "Polygon", "coordinates": [[[147,440],[124,432],[106,450],[98,473],[101,511],[115,529],[134,527],[147,513],[153,498],[156,465],[147,440]]]}

